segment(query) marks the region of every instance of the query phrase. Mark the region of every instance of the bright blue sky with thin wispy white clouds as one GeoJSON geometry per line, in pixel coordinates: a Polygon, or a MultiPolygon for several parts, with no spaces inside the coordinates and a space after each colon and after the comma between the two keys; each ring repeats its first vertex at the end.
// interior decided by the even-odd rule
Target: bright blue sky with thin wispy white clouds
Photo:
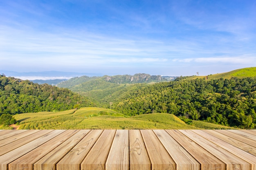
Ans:
{"type": "Polygon", "coordinates": [[[0,70],[179,76],[256,66],[255,0],[5,0],[0,21],[0,70]]]}

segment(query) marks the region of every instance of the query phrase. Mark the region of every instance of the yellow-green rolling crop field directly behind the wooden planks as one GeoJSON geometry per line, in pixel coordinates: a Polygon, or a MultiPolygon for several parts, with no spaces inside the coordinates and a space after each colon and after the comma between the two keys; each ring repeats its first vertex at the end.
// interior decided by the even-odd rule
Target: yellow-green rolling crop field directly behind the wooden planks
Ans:
{"type": "MultiPolygon", "coordinates": [[[[175,115],[154,113],[126,117],[110,109],[81,108],[63,112],[23,113],[14,116],[19,129],[220,129],[206,122],[189,126],[175,115]]],[[[1,127],[0,127],[1,128],[1,127]]],[[[2,127],[3,128],[3,127],[2,127]]]]}

